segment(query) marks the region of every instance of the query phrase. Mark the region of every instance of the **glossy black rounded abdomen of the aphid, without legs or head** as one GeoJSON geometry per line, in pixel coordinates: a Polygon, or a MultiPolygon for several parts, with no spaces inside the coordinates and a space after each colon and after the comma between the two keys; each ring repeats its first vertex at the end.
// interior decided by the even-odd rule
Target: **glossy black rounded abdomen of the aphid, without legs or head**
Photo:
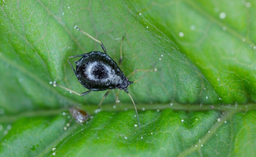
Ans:
{"type": "Polygon", "coordinates": [[[114,60],[103,52],[89,52],[76,62],[79,82],[91,91],[118,88],[125,76],[114,60]]]}

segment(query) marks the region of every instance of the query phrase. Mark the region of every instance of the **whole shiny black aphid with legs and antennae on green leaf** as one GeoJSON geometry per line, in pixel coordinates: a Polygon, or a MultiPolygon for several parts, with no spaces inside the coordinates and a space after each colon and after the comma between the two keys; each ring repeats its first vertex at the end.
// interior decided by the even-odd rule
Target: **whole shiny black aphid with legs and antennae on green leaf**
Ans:
{"type": "MultiPolygon", "coordinates": [[[[105,95],[103,96],[99,107],[105,97],[110,93],[111,89],[120,89],[124,90],[129,97],[131,98],[133,105],[135,107],[135,111],[137,114],[137,119],[138,123],[139,122],[139,116],[137,113],[136,105],[133,101],[133,98],[131,97],[130,93],[127,90],[127,87],[130,84],[133,84],[134,82],[139,81],[142,79],[146,74],[144,74],[142,77],[140,77],[136,81],[129,81],[128,77],[126,77],[123,72],[120,70],[120,68],[117,66],[117,63],[109,56],[107,55],[107,51],[105,47],[103,46],[103,43],[101,41],[98,41],[88,33],[80,30],[77,26],[75,26],[76,30],[79,30],[83,34],[89,36],[91,39],[94,41],[98,42],[101,44],[101,48],[103,49],[104,52],[101,51],[92,51],[89,53],[85,53],[82,55],[76,55],[76,56],[71,56],[69,58],[74,58],[74,57],[81,57],[78,61],[75,61],[76,64],[76,70],[72,66],[72,64],[69,62],[71,68],[73,69],[73,72],[75,73],[75,76],[78,78],[78,81],[82,86],[85,88],[89,89],[89,91],[86,91],[84,93],[77,93],[75,91],[72,91],[71,89],[67,89],[64,86],[61,86],[59,84],[54,84],[55,86],[60,86],[63,89],[66,89],[72,93],[75,93],[79,96],[84,96],[85,94],[90,93],[91,91],[107,91],[105,95]]],[[[123,39],[123,38],[122,38],[123,39]]],[[[121,57],[119,60],[119,64],[122,61],[122,45],[121,45],[121,57]]],[[[156,64],[157,62],[155,62],[156,64]]],[[[155,66],[155,64],[149,69],[149,70],[135,70],[132,74],[137,73],[138,71],[146,71],[147,73],[151,71],[151,69],[155,66]]]]}

